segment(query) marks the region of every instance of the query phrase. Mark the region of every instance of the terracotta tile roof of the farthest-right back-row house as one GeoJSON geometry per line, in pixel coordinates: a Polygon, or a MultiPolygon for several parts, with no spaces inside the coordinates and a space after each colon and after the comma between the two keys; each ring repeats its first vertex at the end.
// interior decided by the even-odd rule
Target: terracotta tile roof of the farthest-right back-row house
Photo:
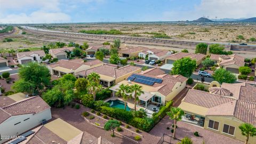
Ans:
{"type": "Polygon", "coordinates": [[[244,57],[237,54],[229,55],[230,59],[222,60],[220,66],[237,65],[239,67],[244,66],[244,57]]]}

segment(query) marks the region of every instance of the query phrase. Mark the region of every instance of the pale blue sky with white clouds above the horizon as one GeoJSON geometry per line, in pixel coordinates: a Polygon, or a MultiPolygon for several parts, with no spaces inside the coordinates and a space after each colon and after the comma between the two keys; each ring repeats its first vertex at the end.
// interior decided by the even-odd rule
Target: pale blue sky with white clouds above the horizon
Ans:
{"type": "Polygon", "coordinates": [[[255,0],[0,0],[0,23],[256,17],[255,0]]]}

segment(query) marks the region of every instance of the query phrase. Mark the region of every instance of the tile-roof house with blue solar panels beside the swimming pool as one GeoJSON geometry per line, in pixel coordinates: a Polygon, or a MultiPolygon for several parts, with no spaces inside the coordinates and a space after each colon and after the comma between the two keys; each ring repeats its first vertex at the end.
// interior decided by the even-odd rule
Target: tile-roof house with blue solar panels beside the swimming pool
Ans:
{"type": "Polygon", "coordinates": [[[181,75],[171,76],[169,74],[165,74],[161,69],[152,68],[146,71],[142,71],[141,73],[133,73],[124,81],[121,81],[117,85],[111,87],[110,90],[113,90],[114,92],[117,91],[119,85],[121,84],[138,84],[142,86],[142,90],[145,92],[145,94],[142,94],[139,97],[141,101],[165,105],[166,101],[172,100],[181,90],[185,88],[186,81],[187,78],[181,75]],[[152,83],[147,84],[143,82],[143,79],[146,78],[150,79],[148,81],[152,83]],[[157,80],[155,81],[154,79],[157,80]]]}

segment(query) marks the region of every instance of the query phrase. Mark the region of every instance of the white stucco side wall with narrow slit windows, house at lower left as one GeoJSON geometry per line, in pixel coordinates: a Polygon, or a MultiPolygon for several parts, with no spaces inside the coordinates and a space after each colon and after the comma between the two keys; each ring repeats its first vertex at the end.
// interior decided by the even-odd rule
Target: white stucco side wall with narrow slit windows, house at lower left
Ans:
{"type": "MultiPolygon", "coordinates": [[[[18,115],[18,116],[11,116],[10,118],[6,119],[3,123],[0,124],[0,134],[3,136],[8,135],[9,138],[14,135],[20,135],[23,132],[26,132],[33,127],[39,125],[42,123],[43,119],[46,119],[48,121],[52,118],[51,115],[51,109],[46,109],[44,111],[41,111],[40,113],[37,113],[35,115],[33,114],[25,114],[25,115],[18,115]],[[24,119],[28,120],[24,121],[24,119]],[[21,123],[19,123],[21,122],[21,123]],[[16,123],[19,123],[17,125],[14,125],[16,123]]],[[[0,143],[3,143],[6,141],[6,139],[3,139],[0,141],[0,143]]]]}

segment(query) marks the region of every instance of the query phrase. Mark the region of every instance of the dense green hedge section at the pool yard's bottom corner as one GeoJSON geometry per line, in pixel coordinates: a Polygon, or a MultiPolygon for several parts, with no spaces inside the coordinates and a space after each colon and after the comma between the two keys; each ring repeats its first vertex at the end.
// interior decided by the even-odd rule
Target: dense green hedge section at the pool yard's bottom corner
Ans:
{"type": "Polygon", "coordinates": [[[154,127],[154,121],[151,118],[133,117],[129,124],[146,132],[149,132],[154,127]]]}

